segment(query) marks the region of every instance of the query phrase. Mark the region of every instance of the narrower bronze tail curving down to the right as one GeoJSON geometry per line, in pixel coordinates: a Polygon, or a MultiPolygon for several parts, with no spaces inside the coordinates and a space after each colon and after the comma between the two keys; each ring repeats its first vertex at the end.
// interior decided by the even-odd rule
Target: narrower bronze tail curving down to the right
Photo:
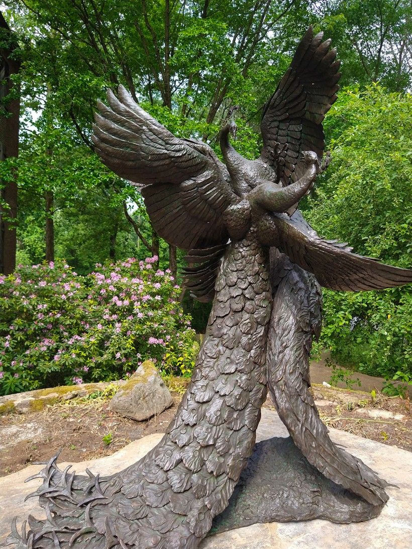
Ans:
{"type": "Polygon", "coordinates": [[[314,275],[278,255],[277,289],[268,336],[268,387],[296,446],[325,477],[372,505],[388,500],[387,483],[336,446],[309,391],[309,351],[321,324],[321,290],[314,275]],[[280,265],[279,265],[280,264],[280,265]]]}

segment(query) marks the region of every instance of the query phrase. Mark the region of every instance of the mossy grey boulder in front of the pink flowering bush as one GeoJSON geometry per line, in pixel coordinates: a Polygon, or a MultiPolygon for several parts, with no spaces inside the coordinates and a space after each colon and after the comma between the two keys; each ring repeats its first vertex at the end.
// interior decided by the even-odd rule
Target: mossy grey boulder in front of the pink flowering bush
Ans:
{"type": "Polygon", "coordinates": [[[110,410],[143,421],[163,412],[172,404],[173,397],[169,389],[153,362],[147,360],[114,395],[110,401],[110,410]]]}

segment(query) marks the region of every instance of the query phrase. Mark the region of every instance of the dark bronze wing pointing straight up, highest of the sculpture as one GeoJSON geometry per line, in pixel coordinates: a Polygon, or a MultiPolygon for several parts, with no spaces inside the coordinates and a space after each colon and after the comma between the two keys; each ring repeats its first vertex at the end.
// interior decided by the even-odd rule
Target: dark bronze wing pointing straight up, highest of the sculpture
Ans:
{"type": "Polygon", "coordinates": [[[313,36],[313,28],[309,27],[263,110],[261,159],[278,170],[284,186],[303,175],[300,152],[313,150],[319,158],[324,154],[322,121],[336,100],[341,75],[336,51],[330,49],[331,41],[322,42],[322,37],[322,32],[313,36]],[[281,163],[274,158],[277,143],[287,145],[281,163]]]}

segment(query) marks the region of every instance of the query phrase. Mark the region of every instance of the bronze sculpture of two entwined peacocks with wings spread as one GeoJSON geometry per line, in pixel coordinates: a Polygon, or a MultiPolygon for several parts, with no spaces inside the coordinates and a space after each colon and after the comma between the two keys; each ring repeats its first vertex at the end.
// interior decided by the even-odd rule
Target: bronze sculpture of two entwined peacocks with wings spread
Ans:
{"type": "Polygon", "coordinates": [[[330,41],[310,28],[264,109],[264,147],[255,161],[230,145],[233,121],[221,132],[225,166],[207,144],[174,137],[122,87],[119,99],[108,92],[109,107],[99,104],[97,152],[118,175],[142,185],[154,228],[189,250],[187,286],[198,299],[213,298],[213,307],[191,385],[162,441],[104,479],[62,472],[52,458],[33,494],[47,519],[30,517],[21,536],[14,525],[10,543],[198,547],[252,454],[267,386],[313,466],[371,506],[387,501],[385,481],[329,439],[308,390],[319,284],[370,290],[412,281],[410,270],[318,237],[297,210],[328,162],[320,163],[322,120],[336,100],[335,58],[330,41]]]}

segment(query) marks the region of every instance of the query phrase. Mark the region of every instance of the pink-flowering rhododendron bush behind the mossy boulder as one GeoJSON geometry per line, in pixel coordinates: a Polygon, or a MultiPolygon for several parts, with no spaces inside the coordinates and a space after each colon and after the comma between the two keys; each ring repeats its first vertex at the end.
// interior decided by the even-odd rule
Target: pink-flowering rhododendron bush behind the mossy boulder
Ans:
{"type": "Polygon", "coordinates": [[[86,277],[62,262],[0,276],[0,394],[119,379],[147,359],[189,373],[194,330],[156,260],[97,265],[86,277]]]}

